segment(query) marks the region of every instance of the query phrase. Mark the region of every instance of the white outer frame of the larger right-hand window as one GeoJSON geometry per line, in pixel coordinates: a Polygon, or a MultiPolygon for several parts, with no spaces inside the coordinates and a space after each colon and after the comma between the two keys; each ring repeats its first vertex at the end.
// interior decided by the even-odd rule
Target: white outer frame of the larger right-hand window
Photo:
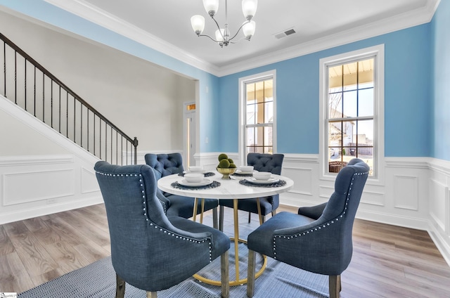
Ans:
{"type": "Polygon", "coordinates": [[[342,53],[336,56],[321,58],[319,60],[319,164],[321,179],[335,179],[335,174],[327,171],[328,165],[328,75],[327,67],[346,64],[354,60],[375,57],[373,81],[375,87],[373,117],[373,176],[369,176],[368,183],[383,183],[385,158],[385,45],[361,48],[356,51],[342,53]]]}

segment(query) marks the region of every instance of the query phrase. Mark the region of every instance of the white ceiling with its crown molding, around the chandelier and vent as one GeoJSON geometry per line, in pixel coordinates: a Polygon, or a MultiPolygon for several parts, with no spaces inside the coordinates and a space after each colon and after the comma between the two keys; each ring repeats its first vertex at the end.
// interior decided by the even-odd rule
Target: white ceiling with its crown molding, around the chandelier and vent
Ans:
{"type": "MultiPolygon", "coordinates": [[[[205,16],[205,34],[213,36],[217,29],[202,0],[46,1],[218,75],[420,25],[431,20],[439,4],[439,0],[260,0],[252,40],[221,48],[207,37],[197,37],[191,28],[191,16],[200,14],[205,16]],[[289,29],[296,33],[274,37],[289,29]]],[[[240,3],[228,4],[231,34],[244,21],[240,3]]],[[[221,0],[219,25],[224,24],[224,15],[221,0]]]]}

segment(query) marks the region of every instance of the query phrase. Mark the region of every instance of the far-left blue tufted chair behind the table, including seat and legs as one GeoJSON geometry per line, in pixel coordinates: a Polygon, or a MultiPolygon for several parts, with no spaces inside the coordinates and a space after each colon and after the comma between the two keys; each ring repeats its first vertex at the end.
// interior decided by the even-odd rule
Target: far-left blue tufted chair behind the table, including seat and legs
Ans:
{"type": "MultiPolygon", "coordinates": [[[[169,154],[153,154],[148,153],[144,156],[146,164],[148,164],[155,171],[156,179],[161,177],[180,174],[184,171],[183,157],[180,153],[169,154]]],[[[194,212],[194,198],[184,197],[182,195],[172,195],[171,193],[164,193],[158,189],[158,198],[167,213],[167,216],[176,215],[191,218],[194,212]]],[[[201,200],[198,200],[197,214],[202,212],[201,200]]],[[[205,199],[204,211],[212,209],[212,222],[214,228],[217,228],[217,206],[219,201],[217,199],[205,199]]]]}

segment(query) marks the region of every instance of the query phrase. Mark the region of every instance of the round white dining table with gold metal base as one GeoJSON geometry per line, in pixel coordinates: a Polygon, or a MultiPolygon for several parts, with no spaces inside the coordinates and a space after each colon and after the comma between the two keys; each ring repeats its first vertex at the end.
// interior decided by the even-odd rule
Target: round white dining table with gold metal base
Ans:
{"type": "MultiPolygon", "coordinates": [[[[250,177],[231,175],[231,179],[222,179],[222,175],[217,171],[211,171],[214,176],[207,176],[205,179],[210,179],[211,181],[217,181],[220,186],[215,188],[198,189],[192,188],[175,188],[172,183],[180,182],[184,180],[183,176],[179,174],[173,174],[169,176],[162,177],[158,180],[158,188],[165,191],[166,193],[172,193],[174,195],[183,195],[186,197],[194,197],[194,210],[193,210],[193,220],[195,221],[197,214],[197,202],[198,199],[205,198],[215,198],[215,199],[225,199],[233,200],[233,219],[234,219],[234,250],[235,250],[235,266],[236,266],[236,280],[231,280],[230,285],[242,285],[247,283],[247,278],[239,278],[239,261],[238,261],[238,242],[245,242],[239,239],[239,223],[238,223],[238,200],[240,199],[250,199],[255,198],[257,200],[257,207],[259,211],[259,223],[262,223],[261,210],[259,208],[259,197],[267,197],[269,195],[278,195],[285,191],[293,188],[294,181],[285,176],[280,176],[272,174],[271,178],[279,179],[280,181],[285,181],[283,186],[278,187],[266,187],[261,185],[252,185],[250,183],[245,183],[245,185],[239,183],[241,179],[248,179],[250,177]]],[[[203,204],[202,204],[203,206],[203,204]]],[[[203,220],[203,210],[200,213],[200,222],[203,220]]],[[[266,257],[264,257],[264,264],[262,268],[257,272],[256,277],[262,274],[266,266],[266,257]]],[[[200,276],[195,276],[199,280],[209,283],[211,285],[220,285],[220,281],[207,280],[200,276]]]]}

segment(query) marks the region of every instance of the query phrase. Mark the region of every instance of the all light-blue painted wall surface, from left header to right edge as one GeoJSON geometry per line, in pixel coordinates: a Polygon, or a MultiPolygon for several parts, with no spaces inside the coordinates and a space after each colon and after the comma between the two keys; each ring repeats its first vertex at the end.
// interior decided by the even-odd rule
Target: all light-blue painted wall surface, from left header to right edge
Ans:
{"type": "Polygon", "coordinates": [[[319,59],[385,44],[385,155],[450,160],[449,1],[441,1],[428,24],[221,78],[43,0],[0,0],[0,5],[198,79],[202,153],[238,152],[238,80],[275,69],[278,152],[318,154],[319,59]]]}

